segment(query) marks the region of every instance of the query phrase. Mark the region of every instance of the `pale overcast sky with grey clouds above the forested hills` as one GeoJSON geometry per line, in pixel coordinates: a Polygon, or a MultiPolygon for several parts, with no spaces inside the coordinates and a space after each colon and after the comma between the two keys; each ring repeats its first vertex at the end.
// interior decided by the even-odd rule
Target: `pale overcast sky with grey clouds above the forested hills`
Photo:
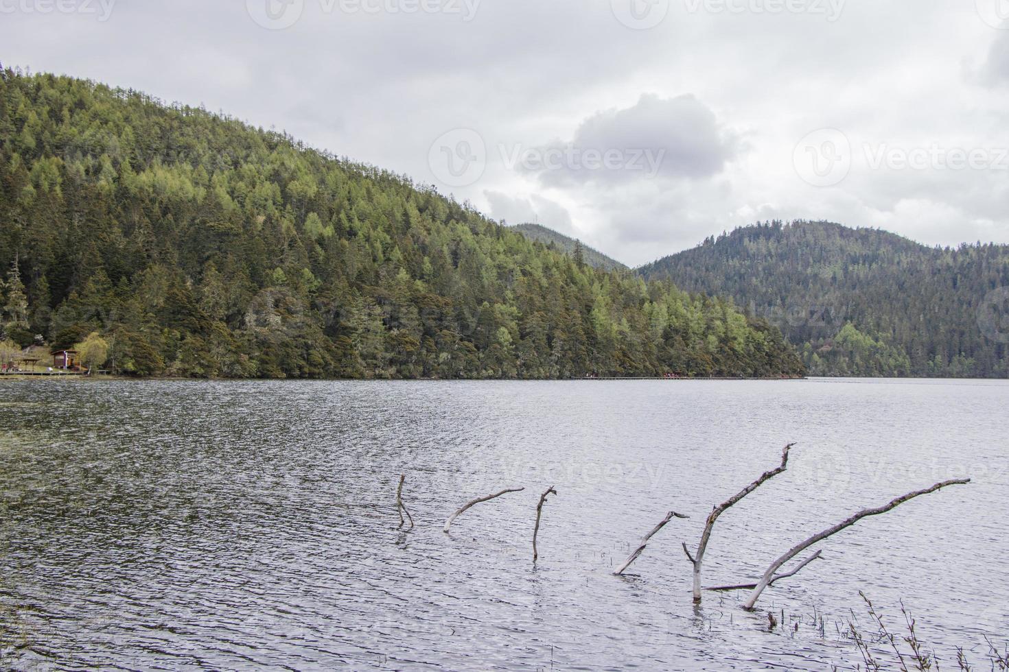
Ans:
{"type": "Polygon", "coordinates": [[[408,173],[628,264],[768,219],[1009,243],[1009,0],[0,0],[0,62],[408,173]]]}

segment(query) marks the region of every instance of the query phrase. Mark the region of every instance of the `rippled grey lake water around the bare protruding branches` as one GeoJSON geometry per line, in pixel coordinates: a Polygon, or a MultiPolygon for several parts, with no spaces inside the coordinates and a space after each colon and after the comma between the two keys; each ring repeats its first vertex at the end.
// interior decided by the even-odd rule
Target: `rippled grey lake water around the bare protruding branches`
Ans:
{"type": "Polygon", "coordinates": [[[944,668],[981,663],[1009,639],[1007,409],[1004,381],[0,381],[0,668],[851,668],[860,589],[944,668]],[[792,441],[705,584],[975,481],[831,537],[756,613],[695,609],[681,541],[792,441]],[[670,510],[691,518],[612,576],[670,510]]]}

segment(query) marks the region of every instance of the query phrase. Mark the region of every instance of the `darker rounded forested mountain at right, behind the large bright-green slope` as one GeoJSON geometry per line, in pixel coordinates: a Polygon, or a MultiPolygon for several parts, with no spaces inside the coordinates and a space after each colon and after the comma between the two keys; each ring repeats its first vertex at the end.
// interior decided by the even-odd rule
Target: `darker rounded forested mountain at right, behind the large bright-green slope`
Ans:
{"type": "Polygon", "coordinates": [[[779,325],[812,375],[1009,376],[1009,246],[771,222],[640,269],[779,325]]]}

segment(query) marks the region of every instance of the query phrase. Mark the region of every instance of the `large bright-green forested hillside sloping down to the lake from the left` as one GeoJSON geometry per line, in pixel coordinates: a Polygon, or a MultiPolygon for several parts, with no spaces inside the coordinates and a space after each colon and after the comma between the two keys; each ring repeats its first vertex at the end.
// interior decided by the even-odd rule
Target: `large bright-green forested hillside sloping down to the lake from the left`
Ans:
{"type": "Polygon", "coordinates": [[[133,92],[0,81],[4,337],[187,377],[778,376],[730,302],[605,273],[403,176],[133,92]]]}

